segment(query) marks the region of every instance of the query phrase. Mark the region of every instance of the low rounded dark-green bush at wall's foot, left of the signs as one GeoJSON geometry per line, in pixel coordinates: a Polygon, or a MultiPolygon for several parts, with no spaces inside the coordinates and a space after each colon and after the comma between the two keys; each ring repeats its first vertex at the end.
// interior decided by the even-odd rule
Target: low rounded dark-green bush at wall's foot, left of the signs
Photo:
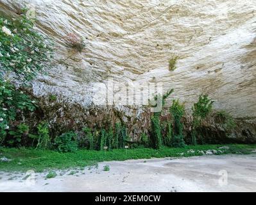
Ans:
{"type": "Polygon", "coordinates": [[[60,152],[74,152],[78,150],[76,142],[76,133],[64,133],[55,138],[55,145],[60,152]]]}

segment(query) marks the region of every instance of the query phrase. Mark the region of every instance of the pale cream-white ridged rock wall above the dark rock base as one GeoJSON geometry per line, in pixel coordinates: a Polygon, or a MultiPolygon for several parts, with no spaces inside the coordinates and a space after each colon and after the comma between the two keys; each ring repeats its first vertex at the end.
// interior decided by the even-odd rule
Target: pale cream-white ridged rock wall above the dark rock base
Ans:
{"type": "Polygon", "coordinates": [[[37,95],[89,106],[108,78],[119,86],[162,82],[187,108],[204,93],[216,110],[256,117],[254,0],[1,0],[0,11],[26,4],[56,44],[54,68],[34,83],[37,95]],[[83,53],[65,45],[68,33],[85,38],[83,53]],[[174,55],[177,69],[169,71],[174,55]]]}

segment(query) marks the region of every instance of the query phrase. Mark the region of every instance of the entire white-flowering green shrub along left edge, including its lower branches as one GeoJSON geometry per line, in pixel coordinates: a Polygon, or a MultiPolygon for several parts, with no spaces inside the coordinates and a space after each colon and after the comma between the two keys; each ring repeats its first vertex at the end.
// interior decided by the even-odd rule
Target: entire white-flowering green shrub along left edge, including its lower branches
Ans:
{"type": "MultiPolygon", "coordinates": [[[[35,110],[35,101],[15,88],[10,74],[21,86],[28,86],[53,57],[51,42],[34,29],[34,19],[29,19],[26,12],[22,9],[16,19],[0,18],[0,144],[12,122],[18,121],[18,114],[24,117],[24,111],[35,110]]],[[[12,133],[12,136],[17,135],[12,133]]]]}

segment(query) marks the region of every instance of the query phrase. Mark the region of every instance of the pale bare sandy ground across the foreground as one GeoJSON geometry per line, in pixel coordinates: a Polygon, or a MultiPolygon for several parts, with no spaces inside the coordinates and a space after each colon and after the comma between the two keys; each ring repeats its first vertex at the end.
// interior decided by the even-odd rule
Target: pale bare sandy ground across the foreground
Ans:
{"type": "Polygon", "coordinates": [[[256,192],[256,154],[111,161],[51,179],[28,173],[1,172],[0,192],[256,192]]]}

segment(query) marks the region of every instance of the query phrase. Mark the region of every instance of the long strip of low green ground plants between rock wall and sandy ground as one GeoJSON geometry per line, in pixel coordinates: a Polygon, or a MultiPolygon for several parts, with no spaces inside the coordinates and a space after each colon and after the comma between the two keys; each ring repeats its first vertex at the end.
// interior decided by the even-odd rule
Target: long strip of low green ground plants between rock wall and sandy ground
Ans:
{"type": "Polygon", "coordinates": [[[26,172],[27,170],[35,170],[35,172],[42,172],[44,170],[92,166],[96,165],[99,161],[200,156],[202,155],[200,151],[207,150],[216,150],[218,151],[217,154],[251,154],[255,149],[256,144],[187,145],[185,148],[162,147],[161,149],[128,149],[127,152],[124,149],[114,149],[107,152],[81,149],[76,152],[66,153],[50,150],[0,148],[0,158],[8,158],[11,160],[0,160],[0,171],[26,172]],[[219,149],[221,146],[227,146],[229,149],[219,149]],[[221,150],[221,152],[219,152],[219,150],[221,150]]]}

